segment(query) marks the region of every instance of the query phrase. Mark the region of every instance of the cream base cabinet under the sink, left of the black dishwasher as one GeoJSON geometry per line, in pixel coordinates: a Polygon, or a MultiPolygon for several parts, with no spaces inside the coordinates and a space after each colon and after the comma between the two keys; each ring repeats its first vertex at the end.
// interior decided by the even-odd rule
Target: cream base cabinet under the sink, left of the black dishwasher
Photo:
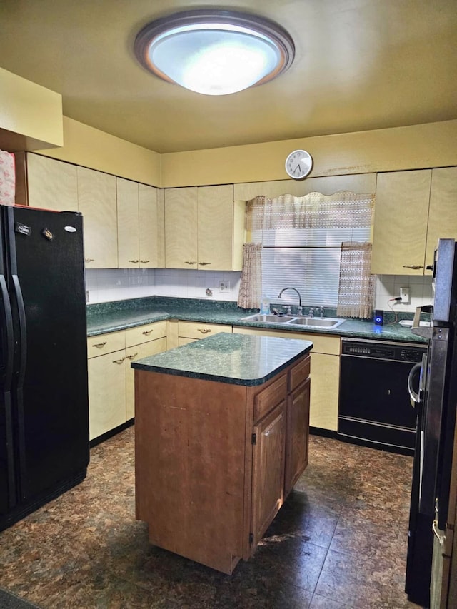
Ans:
{"type": "Polygon", "coordinates": [[[313,342],[311,351],[311,398],[309,425],[329,431],[338,429],[340,383],[340,338],[323,334],[303,334],[233,326],[234,333],[299,338],[313,342]]]}

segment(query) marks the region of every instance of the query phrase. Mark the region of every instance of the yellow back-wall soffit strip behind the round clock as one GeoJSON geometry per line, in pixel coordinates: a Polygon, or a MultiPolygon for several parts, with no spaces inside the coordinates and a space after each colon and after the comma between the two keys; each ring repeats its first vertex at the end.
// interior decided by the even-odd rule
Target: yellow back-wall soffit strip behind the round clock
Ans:
{"type": "Polygon", "coordinates": [[[457,121],[166,153],[162,186],[284,180],[286,156],[294,149],[313,156],[310,177],[453,166],[457,121]]]}

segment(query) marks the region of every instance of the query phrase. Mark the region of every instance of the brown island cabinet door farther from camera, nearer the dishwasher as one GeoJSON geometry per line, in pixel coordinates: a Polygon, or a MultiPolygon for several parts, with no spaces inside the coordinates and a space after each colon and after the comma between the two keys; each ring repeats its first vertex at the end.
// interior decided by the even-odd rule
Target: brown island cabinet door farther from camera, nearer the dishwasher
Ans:
{"type": "Polygon", "coordinates": [[[310,389],[311,380],[307,378],[287,398],[284,498],[291,492],[293,485],[308,465],[310,389]]]}

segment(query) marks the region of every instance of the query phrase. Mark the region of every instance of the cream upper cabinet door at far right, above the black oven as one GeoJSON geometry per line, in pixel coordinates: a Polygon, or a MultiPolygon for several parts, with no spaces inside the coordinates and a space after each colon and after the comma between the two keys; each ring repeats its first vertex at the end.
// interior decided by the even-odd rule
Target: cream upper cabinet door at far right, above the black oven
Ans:
{"type": "Polygon", "coordinates": [[[431,172],[430,211],[426,244],[425,273],[433,264],[439,238],[457,239],[457,167],[443,167],[431,172]]]}

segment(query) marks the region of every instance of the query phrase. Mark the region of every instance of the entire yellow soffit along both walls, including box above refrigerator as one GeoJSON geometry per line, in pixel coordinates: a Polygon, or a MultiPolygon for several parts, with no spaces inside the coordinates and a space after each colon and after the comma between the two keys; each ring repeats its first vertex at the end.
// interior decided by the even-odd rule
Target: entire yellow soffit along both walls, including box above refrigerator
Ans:
{"type": "Polygon", "coordinates": [[[34,150],[162,188],[293,182],[288,180],[284,162],[288,153],[298,148],[313,156],[308,181],[323,176],[457,166],[457,120],[159,154],[62,116],[59,94],[0,69],[0,147],[34,150]]]}

